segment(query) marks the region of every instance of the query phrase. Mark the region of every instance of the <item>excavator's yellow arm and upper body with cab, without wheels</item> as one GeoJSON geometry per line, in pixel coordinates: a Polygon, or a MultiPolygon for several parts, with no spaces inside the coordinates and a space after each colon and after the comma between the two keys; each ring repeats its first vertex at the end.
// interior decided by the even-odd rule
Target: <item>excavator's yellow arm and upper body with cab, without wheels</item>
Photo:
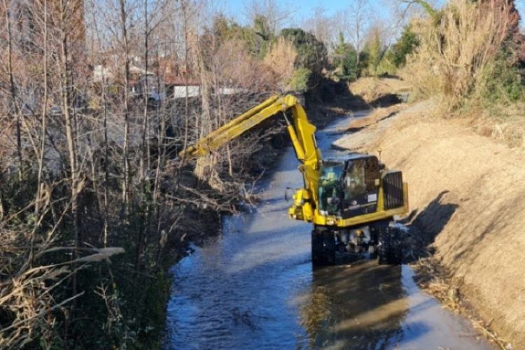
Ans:
{"type": "MultiPolygon", "coordinates": [[[[206,156],[218,150],[218,148],[227,144],[230,140],[260,125],[263,121],[279,115],[279,113],[283,113],[286,120],[286,128],[292,141],[295,154],[297,155],[297,160],[301,163],[299,170],[304,180],[304,187],[296,191],[293,196],[293,205],[288,209],[290,218],[311,222],[318,226],[349,228],[363,223],[384,221],[387,218],[392,218],[395,215],[404,214],[408,211],[407,185],[406,183],[402,183],[400,173],[398,178],[395,178],[398,179],[393,185],[395,190],[388,190],[388,188],[390,188],[388,187],[388,181],[390,181],[388,179],[391,179],[391,176],[384,177],[386,172],[380,173],[379,170],[377,170],[377,172],[370,172],[370,169],[377,168],[377,158],[373,156],[367,156],[367,159],[370,159],[370,165],[362,169],[363,174],[365,169],[366,172],[370,174],[367,173],[366,179],[363,177],[363,174],[363,176],[361,176],[362,179],[361,177],[357,179],[360,182],[368,181],[367,191],[370,196],[367,197],[367,202],[358,203],[359,201],[363,201],[362,196],[356,197],[355,200],[345,200],[341,192],[344,187],[344,179],[341,176],[343,173],[347,174],[346,178],[347,181],[349,181],[346,184],[346,195],[355,195],[356,190],[351,189],[351,176],[358,176],[358,172],[350,174],[349,169],[353,167],[353,163],[361,164],[363,161],[346,160],[346,162],[344,162],[345,165],[340,163],[338,166],[332,167],[333,169],[328,166],[333,162],[330,163],[330,161],[328,161],[325,167],[325,161],[323,161],[321,151],[316,144],[316,127],[309,123],[299,99],[290,94],[270,97],[265,102],[262,102],[262,104],[255,106],[253,109],[241,114],[229,123],[214,130],[206,137],[203,137],[197,141],[195,145],[181,151],[179,156],[182,159],[206,156]],[[290,112],[290,120],[286,117],[286,112],[290,112]],[[337,170],[337,167],[340,169],[337,170]],[[324,174],[328,171],[327,169],[330,172],[334,172],[332,176],[335,176],[337,173],[340,179],[335,182],[330,181],[328,174],[324,174]],[[374,179],[370,178],[370,176],[373,176],[374,179]],[[385,181],[385,179],[387,181],[385,181]],[[321,188],[319,187],[320,181],[322,182],[321,188]],[[373,181],[375,185],[371,184],[370,181],[373,181]],[[327,191],[331,191],[329,195],[327,195],[327,191]],[[323,193],[322,198],[320,198],[321,193],[323,193]],[[391,196],[391,193],[395,193],[395,198],[398,198],[398,201],[392,205],[391,201],[388,200],[388,198],[390,198],[388,196],[391,196]],[[331,204],[326,203],[328,200],[327,196],[330,197],[329,200],[332,202],[331,204]],[[353,202],[355,202],[355,204],[352,204],[353,202]],[[337,204],[338,208],[343,208],[339,208],[340,210],[337,209],[337,211],[325,210],[325,207],[330,207],[335,204],[337,204]],[[357,214],[357,212],[356,214],[352,214],[355,208],[360,208],[358,209],[360,214],[357,214]],[[370,208],[374,208],[374,210],[370,208]],[[361,211],[363,212],[361,213],[361,211]]],[[[357,169],[357,167],[355,169],[357,169]]],[[[361,187],[362,186],[363,185],[361,185],[361,187]]]]}

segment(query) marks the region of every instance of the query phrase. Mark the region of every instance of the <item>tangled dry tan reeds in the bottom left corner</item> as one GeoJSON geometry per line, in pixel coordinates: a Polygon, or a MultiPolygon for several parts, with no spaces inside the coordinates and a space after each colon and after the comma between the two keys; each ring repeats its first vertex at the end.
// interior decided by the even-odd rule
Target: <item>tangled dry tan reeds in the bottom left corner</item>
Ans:
{"type": "MultiPolygon", "coordinates": [[[[29,237],[30,235],[27,235],[29,237]]],[[[26,241],[24,249],[15,251],[18,244],[6,241],[6,237],[16,237],[20,242],[20,232],[0,230],[0,348],[21,348],[35,337],[44,342],[55,335],[55,312],[66,313],[65,307],[83,295],[77,293],[63,300],[55,300],[55,292],[63,284],[69,283],[71,276],[82,269],[85,264],[108,260],[111,256],[124,253],[123,248],[109,247],[87,249],[87,255],[76,260],[55,265],[35,265],[33,260],[45,254],[57,251],[72,251],[71,247],[45,248],[47,244],[35,248],[35,255],[27,254],[26,241]],[[24,257],[24,258],[17,258],[24,257]]]]}

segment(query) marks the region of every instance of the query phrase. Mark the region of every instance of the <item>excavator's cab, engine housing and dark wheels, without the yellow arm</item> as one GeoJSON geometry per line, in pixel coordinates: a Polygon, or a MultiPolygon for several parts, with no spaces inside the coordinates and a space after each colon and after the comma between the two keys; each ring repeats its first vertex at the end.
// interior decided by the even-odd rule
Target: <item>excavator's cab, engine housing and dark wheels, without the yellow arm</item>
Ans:
{"type": "Polygon", "coordinates": [[[407,209],[402,174],[384,167],[374,155],[346,155],[319,163],[318,214],[314,224],[312,261],[333,265],[364,256],[381,264],[402,262],[401,232],[393,216],[407,209]]]}

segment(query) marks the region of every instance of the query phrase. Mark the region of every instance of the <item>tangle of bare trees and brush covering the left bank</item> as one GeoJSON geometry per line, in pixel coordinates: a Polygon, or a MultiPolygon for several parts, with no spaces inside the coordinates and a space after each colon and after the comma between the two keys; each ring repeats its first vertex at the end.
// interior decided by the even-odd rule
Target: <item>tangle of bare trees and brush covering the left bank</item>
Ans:
{"type": "Polygon", "coordinates": [[[195,34],[189,1],[1,6],[0,347],[158,346],[167,269],[252,200],[281,128],[214,153],[200,179],[176,154],[288,77],[195,34]]]}

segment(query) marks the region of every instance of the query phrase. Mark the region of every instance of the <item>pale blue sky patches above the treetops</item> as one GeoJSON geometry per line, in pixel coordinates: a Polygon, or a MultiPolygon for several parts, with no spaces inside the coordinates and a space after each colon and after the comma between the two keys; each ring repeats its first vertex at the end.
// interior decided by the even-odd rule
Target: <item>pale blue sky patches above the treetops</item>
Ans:
{"type": "MultiPolygon", "coordinates": [[[[246,3],[251,0],[223,0],[225,13],[231,15],[235,20],[242,24],[247,24],[246,20],[246,3]]],[[[307,18],[311,18],[316,8],[325,8],[325,15],[333,15],[342,11],[349,6],[351,0],[276,0],[283,9],[289,9],[293,12],[293,22],[288,23],[286,27],[299,26],[307,18]]],[[[374,9],[375,13],[381,18],[388,18],[390,8],[388,1],[391,0],[368,0],[368,5],[374,9]]],[[[435,0],[437,6],[442,6],[446,0],[435,0]]],[[[525,0],[515,0],[521,17],[525,18],[525,0]]],[[[524,27],[525,20],[521,21],[521,27],[524,27]]]]}

